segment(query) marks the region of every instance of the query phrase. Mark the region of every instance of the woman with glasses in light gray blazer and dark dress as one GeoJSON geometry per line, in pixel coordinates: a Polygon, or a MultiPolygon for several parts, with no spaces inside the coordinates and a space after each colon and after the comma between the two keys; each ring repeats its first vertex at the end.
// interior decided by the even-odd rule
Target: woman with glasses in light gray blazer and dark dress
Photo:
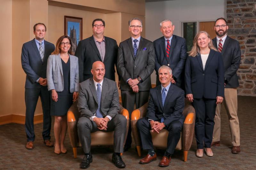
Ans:
{"type": "Polygon", "coordinates": [[[78,97],[78,58],[70,55],[68,36],[61,36],[47,62],[48,90],[52,91],[51,116],[54,116],[54,153],[67,153],[64,140],[67,132],[67,112],[78,97]]]}

